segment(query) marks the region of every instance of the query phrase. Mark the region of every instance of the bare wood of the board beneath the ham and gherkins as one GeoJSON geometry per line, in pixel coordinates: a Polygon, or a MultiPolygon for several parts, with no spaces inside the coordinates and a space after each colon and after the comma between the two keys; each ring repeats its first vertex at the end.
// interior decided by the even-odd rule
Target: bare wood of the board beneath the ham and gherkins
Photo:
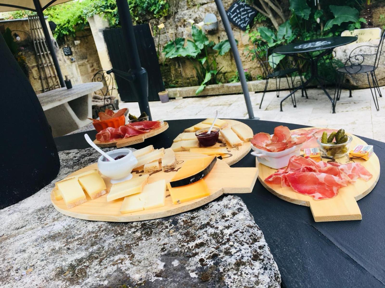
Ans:
{"type": "MultiPolygon", "coordinates": [[[[350,144],[349,150],[353,149],[358,144],[367,144],[357,136],[351,136],[353,137],[353,140],[350,144]]],[[[328,157],[328,159],[322,158],[322,160],[325,162],[336,161],[343,164],[350,162],[360,163],[370,173],[372,173],[373,177],[368,182],[359,178],[356,182],[349,184],[347,187],[339,189],[336,197],[323,200],[314,200],[308,195],[295,192],[290,187],[283,188],[281,185],[265,183],[263,180],[277,170],[264,166],[256,160],[256,166],[259,169],[258,179],[267,190],[277,197],[294,204],[310,207],[315,222],[361,220],[362,214],[357,201],[368,195],[377,184],[378,178],[380,177],[380,161],[378,160],[377,155],[373,153],[372,157],[370,157],[368,161],[353,158],[351,159],[347,156],[337,159],[328,157]]]]}

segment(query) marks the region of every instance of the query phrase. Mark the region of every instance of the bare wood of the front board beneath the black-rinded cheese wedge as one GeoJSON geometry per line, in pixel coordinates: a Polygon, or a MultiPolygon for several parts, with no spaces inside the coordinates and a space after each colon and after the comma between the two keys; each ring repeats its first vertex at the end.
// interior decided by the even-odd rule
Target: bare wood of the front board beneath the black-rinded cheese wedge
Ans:
{"type": "MultiPolygon", "coordinates": [[[[168,170],[166,172],[159,170],[153,172],[149,176],[148,184],[157,180],[165,179],[169,182],[175,175],[177,170],[182,167],[183,162],[187,159],[196,159],[201,157],[207,157],[202,154],[175,152],[177,159],[176,169],[168,170]]],[[[82,172],[97,169],[97,163],[87,166],[83,169],[77,170],[69,176],[77,175],[82,172]]],[[[134,177],[140,177],[143,175],[143,170],[132,171],[134,177]]],[[[133,213],[121,214],[119,209],[121,208],[123,198],[117,199],[111,202],[107,202],[107,194],[95,199],[90,200],[87,195],[87,202],[75,206],[71,209],[67,209],[64,200],[55,200],[54,190],[51,192],[51,201],[55,209],[64,215],[70,217],[84,219],[84,220],[95,220],[95,221],[110,221],[110,222],[131,222],[140,220],[149,220],[167,217],[170,215],[179,214],[186,212],[191,209],[195,209],[199,206],[207,204],[208,202],[218,198],[222,194],[227,193],[251,193],[254,184],[258,176],[258,168],[247,167],[247,168],[231,168],[226,162],[217,160],[211,172],[204,178],[209,190],[210,195],[191,200],[182,204],[172,204],[169,192],[166,193],[166,205],[163,207],[143,210],[133,213]]],[[[107,190],[110,190],[111,184],[110,179],[102,176],[107,186],[107,190]]]]}

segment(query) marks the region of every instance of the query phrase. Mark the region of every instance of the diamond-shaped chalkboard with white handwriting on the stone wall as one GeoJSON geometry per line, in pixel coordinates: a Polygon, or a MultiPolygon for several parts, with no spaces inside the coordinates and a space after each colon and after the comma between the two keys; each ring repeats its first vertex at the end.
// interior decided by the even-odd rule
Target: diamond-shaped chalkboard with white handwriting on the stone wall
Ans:
{"type": "Polygon", "coordinates": [[[235,26],[246,31],[247,25],[252,23],[257,13],[258,11],[250,5],[236,1],[231,5],[229,10],[227,10],[227,17],[235,26]]]}

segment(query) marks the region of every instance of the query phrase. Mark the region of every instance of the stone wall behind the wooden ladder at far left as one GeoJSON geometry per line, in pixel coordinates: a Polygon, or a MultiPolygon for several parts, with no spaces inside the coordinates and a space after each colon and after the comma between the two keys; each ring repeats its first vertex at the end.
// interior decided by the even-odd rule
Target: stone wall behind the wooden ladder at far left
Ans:
{"type": "MultiPolygon", "coordinates": [[[[48,23],[47,23],[48,25],[48,23]]],[[[40,73],[37,66],[37,56],[33,47],[31,39],[31,31],[27,19],[17,20],[4,20],[0,21],[0,31],[9,27],[12,30],[12,34],[16,32],[20,35],[21,40],[17,43],[18,46],[22,46],[24,56],[27,58],[28,65],[28,79],[36,93],[42,92],[42,82],[40,80],[40,73]]],[[[102,66],[99,61],[99,56],[96,50],[94,38],[91,30],[85,29],[78,32],[76,37],[67,37],[64,43],[59,46],[55,42],[52,34],[52,41],[54,41],[55,52],[59,61],[60,68],[62,70],[63,77],[68,75],[72,84],[91,82],[94,74],[101,70],[102,66]],[[74,40],[80,41],[78,45],[75,45],[74,40]],[[70,46],[73,55],[65,56],[62,48],[70,46]],[[75,58],[75,61],[71,61],[70,58],[75,58]]]]}

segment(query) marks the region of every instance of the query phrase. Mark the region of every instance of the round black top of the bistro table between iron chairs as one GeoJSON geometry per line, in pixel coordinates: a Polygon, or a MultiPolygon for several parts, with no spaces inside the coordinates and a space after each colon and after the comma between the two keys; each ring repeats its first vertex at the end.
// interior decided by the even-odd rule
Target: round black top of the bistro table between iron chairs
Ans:
{"type": "Polygon", "coordinates": [[[300,41],[300,42],[283,45],[275,48],[273,52],[280,53],[280,54],[305,53],[305,52],[335,48],[338,46],[352,43],[356,40],[357,40],[356,36],[338,36],[338,37],[312,39],[312,40],[300,41]]]}

